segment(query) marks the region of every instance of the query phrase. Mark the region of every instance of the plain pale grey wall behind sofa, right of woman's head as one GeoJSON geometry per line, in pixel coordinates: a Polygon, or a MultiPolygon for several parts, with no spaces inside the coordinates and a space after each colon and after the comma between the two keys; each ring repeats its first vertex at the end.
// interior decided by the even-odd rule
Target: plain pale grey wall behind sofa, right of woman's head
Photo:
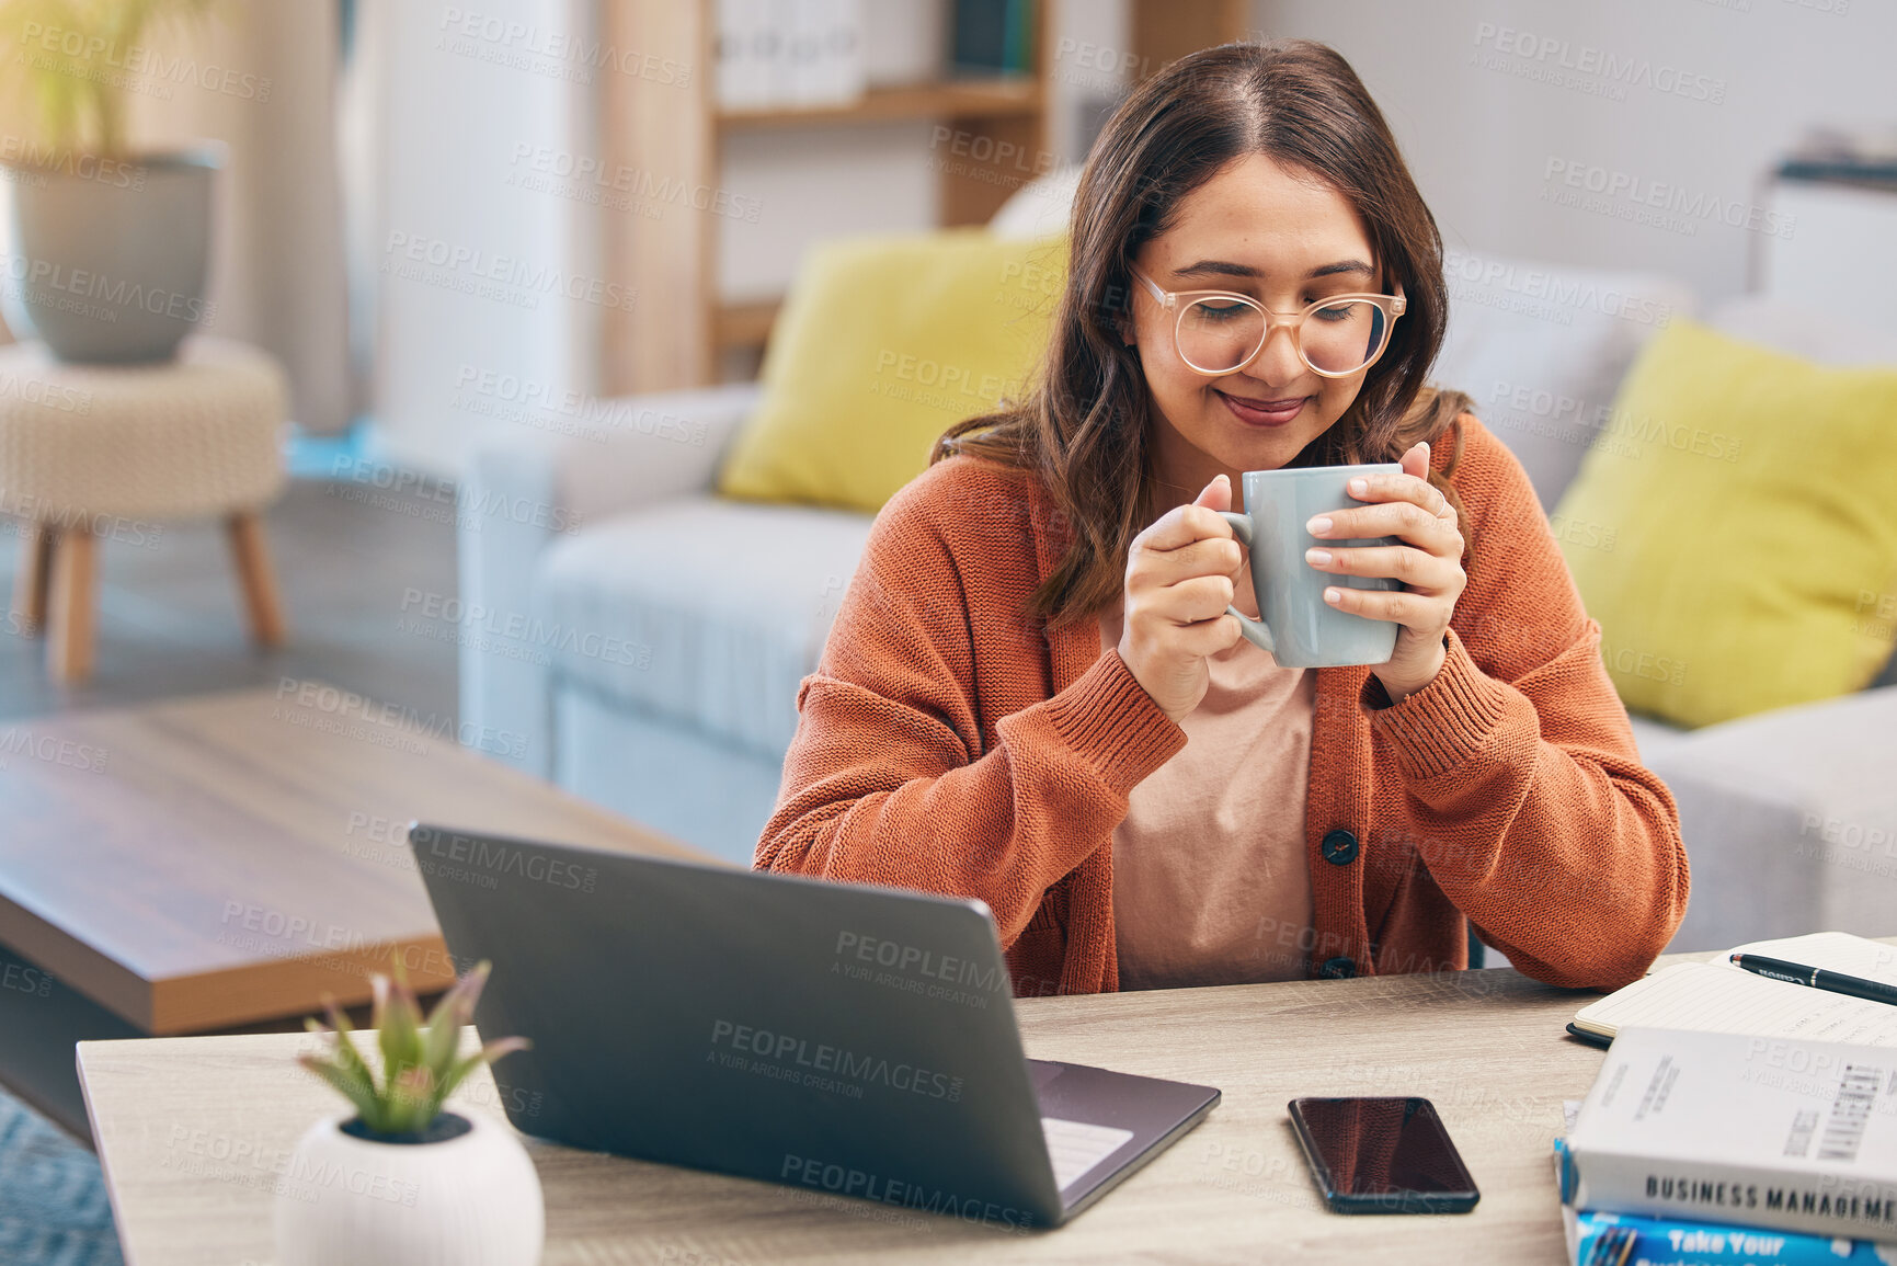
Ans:
{"type": "Polygon", "coordinates": [[[1260,0],[1254,23],[1351,59],[1451,245],[1667,271],[1705,302],[1745,290],[1759,232],[1641,224],[1618,218],[1639,213],[1624,195],[1607,214],[1544,194],[1569,190],[1567,171],[1618,173],[1749,209],[1806,123],[1897,123],[1889,0],[1260,0]],[[1499,47],[1527,36],[1533,55],[1499,47]],[[1601,74],[1556,82],[1573,74],[1563,57],[1612,57],[1643,84],[1620,84],[1616,99],[1601,74]],[[1554,163],[1569,167],[1550,177],[1554,163]]]}

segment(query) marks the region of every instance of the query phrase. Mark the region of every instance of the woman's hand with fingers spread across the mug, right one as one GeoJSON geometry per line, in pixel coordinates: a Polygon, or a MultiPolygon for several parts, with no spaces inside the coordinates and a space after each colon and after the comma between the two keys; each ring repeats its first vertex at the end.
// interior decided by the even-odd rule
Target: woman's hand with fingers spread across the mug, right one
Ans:
{"type": "Polygon", "coordinates": [[[1372,668],[1391,702],[1402,702],[1436,680],[1442,668],[1444,632],[1455,613],[1468,577],[1463,575],[1463,531],[1447,497],[1423,476],[1428,473],[1428,444],[1415,444],[1402,456],[1402,475],[1353,478],[1349,493],[1375,505],[1318,514],[1305,530],[1318,537],[1362,539],[1398,537],[1404,545],[1358,545],[1305,550],[1305,562],[1318,571],[1339,575],[1392,575],[1400,592],[1349,588],[1324,590],[1324,602],[1353,615],[1394,621],[1396,653],[1391,662],[1372,668]],[[1358,488],[1362,484],[1362,488],[1358,488]]]}

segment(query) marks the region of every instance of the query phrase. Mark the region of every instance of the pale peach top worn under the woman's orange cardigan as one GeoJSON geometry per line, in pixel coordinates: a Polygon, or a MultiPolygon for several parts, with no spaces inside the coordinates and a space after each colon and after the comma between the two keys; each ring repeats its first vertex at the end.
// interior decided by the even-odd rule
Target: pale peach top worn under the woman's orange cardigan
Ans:
{"type": "MultiPolygon", "coordinates": [[[[1239,607],[1252,607],[1248,592],[1239,607]]],[[[1100,613],[1102,649],[1119,645],[1121,615],[1119,602],[1100,613]]],[[[1121,989],[1305,977],[1317,672],[1280,668],[1244,640],[1208,670],[1180,721],[1186,746],[1133,788],[1114,828],[1121,989]]]]}

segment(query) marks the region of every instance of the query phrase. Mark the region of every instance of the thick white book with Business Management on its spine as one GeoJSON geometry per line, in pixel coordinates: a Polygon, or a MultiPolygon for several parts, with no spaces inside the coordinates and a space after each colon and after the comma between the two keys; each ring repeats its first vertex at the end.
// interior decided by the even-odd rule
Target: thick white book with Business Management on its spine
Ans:
{"type": "Polygon", "coordinates": [[[1897,1050],[1622,1029],[1569,1133],[1561,1198],[1897,1243],[1897,1050]]]}

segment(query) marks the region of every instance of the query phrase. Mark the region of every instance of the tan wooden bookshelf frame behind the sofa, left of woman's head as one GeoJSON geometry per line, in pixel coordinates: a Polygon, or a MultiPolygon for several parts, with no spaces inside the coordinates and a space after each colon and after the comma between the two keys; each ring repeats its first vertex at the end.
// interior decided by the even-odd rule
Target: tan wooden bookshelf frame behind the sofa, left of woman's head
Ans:
{"type": "MultiPolygon", "coordinates": [[[[875,0],[871,0],[875,2],[875,0]]],[[[1068,0],[1072,2],[1072,0],[1068,0]]],[[[605,0],[601,36],[613,47],[691,66],[687,85],[666,76],[607,76],[601,95],[603,163],[691,188],[721,186],[727,140],[746,133],[941,121],[969,154],[937,173],[937,224],[983,224],[1024,182],[1013,156],[1049,150],[1049,74],[1062,0],[1040,0],[1028,72],[873,85],[848,104],[723,108],[717,102],[717,0],[605,0]]],[[[1131,32],[1144,65],[1244,34],[1243,0],[1133,0],[1131,32]]],[[[647,63],[653,65],[653,63],[647,63]]],[[[761,347],[778,302],[721,302],[715,214],[603,216],[607,279],[637,292],[601,321],[601,389],[668,391],[717,382],[727,351],[761,347]]]]}

